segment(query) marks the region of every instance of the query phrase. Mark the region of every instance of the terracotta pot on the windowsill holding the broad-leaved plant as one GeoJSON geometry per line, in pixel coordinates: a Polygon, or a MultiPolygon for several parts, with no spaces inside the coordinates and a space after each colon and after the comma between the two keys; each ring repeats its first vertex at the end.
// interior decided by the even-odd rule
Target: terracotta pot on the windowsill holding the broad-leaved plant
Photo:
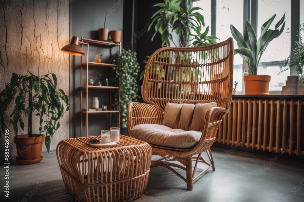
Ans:
{"type": "Polygon", "coordinates": [[[269,95],[269,75],[244,76],[245,95],[269,95]]]}

